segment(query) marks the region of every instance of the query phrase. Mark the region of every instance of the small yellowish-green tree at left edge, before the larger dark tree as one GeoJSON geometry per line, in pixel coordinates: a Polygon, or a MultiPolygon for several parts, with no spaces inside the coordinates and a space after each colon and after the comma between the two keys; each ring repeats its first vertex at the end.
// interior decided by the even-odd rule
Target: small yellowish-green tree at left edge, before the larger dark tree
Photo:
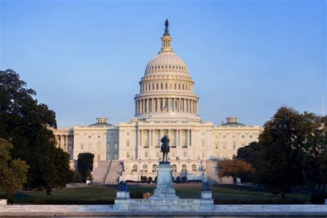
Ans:
{"type": "Polygon", "coordinates": [[[26,161],[10,157],[12,148],[11,143],[0,138],[0,190],[6,192],[8,202],[11,204],[14,193],[26,184],[29,168],[26,161]]]}

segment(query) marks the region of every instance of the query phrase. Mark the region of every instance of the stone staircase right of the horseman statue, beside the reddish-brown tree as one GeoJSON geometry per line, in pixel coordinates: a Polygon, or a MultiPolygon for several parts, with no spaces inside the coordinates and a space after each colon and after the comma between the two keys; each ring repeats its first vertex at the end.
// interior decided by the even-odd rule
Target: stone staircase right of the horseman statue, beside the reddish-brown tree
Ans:
{"type": "Polygon", "coordinates": [[[218,177],[217,160],[206,161],[206,177],[210,184],[233,184],[232,177],[218,177]]]}

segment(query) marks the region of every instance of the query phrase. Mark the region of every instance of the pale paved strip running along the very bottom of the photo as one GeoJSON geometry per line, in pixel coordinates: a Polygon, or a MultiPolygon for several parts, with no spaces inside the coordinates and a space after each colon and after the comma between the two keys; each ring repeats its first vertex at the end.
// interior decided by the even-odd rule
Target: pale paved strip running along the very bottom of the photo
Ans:
{"type": "Polygon", "coordinates": [[[327,205],[217,205],[212,211],[117,211],[112,205],[0,206],[0,216],[327,216],[327,205]]]}

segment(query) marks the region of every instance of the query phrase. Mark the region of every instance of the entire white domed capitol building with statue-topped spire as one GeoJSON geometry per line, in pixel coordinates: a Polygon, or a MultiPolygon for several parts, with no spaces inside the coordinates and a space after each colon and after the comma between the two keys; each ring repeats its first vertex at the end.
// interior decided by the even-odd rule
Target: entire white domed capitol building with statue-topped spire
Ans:
{"type": "Polygon", "coordinates": [[[72,162],[81,152],[95,155],[95,183],[139,181],[141,176],[154,179],[164,135],[170,138],[168,159],[175,178],[192,180],[206,175],[222,182],[215,169],[217,159],[232,159],[238,148],[258,140],[262,128],[239,123],[237,117],[227,117],[218,126],[201,120],[199,96],[193,92],[195,81],[172,49],[167,21],[161,41],[161,50],[139,81],[135,116],[130,121],[115,126],[99,117],[94,124],[54,130],[57,146],[70,154],[72,162]]]}

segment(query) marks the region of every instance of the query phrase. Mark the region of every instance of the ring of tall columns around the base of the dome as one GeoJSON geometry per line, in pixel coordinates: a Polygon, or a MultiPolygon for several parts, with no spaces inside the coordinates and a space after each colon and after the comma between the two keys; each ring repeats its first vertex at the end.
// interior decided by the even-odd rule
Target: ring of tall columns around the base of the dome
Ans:
{"type": "Polygon", "coordinates": [[[146,112],[190,112],[198,114],[198,102],[194,99],[154,98],[135,101],[135,113],[146,112]]]}

